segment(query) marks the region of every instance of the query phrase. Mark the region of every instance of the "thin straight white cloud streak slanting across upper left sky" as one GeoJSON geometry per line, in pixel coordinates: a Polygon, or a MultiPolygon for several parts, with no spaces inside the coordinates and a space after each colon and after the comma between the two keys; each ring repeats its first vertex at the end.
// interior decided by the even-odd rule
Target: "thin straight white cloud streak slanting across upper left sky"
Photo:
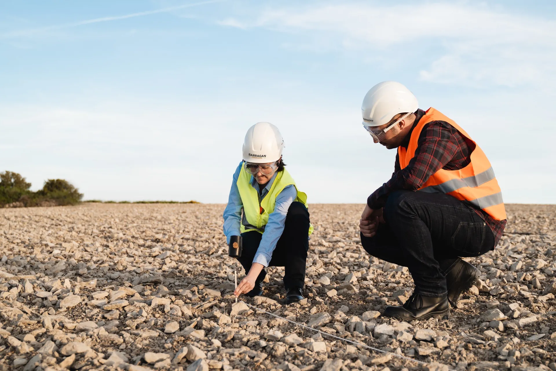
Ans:
{"type": "Polygon", "coordinates": [[[91,24],[91,23],[110,22],[110,21],[118,21],[120,19],[150,16],[151,14],[167,13],[167,12],[175,11],[175,10],[178,10],[178,9],[191,8],[191,7],[196,7],[196,6],[210,4],[210,3],[219,3],[219,2],[223,2],[223,1],[226,1],[226,0],[207,0],[207,1],[197,2],[197,3],[178,5],[178,6],[175,6],[175,7],[155,9],[155,10],[152,10],[152,11],[125,14],[123,16],[93,18],[93,19],[86,19],[85,21],[78,21],[78,22],[64,23],[64,24],[54,24],[53,26],[47,26],[47,27],[41,27],[41,28],[21,29],[21,30],[18,30],[18,31],[10,31],[10,32],[0,34],[0,38],[31,36],[32,34],[42,33],[42,32],[46,32],[46,31],[52,31],[54,29],[72,28],[72,27],[78,27],[78,26],[85,26],[85,24],[91,24]]]}

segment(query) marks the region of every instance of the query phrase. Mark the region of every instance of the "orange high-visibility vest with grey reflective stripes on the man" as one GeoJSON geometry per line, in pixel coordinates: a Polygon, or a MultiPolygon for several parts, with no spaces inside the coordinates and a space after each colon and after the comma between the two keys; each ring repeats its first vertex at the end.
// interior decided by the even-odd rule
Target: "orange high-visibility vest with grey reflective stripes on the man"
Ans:
{"type": "MultiPolygon", "coordinates": [[[[415,156],[419,134],[425,124],[431,121],[448,122],[461,135],[471,140],[468,133],[459,127],[458,124],[431,107],[425,112],[425,115],[421,117],[413,132],[411,132],[408,148],[398,147],[400,169],[408,166],[409,161],[415,156]]],[[[475,142],[473,141],[473,143],[475,142]]],[[[443,192],[478,209],[484,210],[496,220],[506,219],[506,210],[502,201],[500,186],[494,176],[489,160],[476,143],[475,150],[471,152],[471,162],[469,165],[460,170],[440,169],[436,171],[419,188],[419,191],[443,192]]]]}

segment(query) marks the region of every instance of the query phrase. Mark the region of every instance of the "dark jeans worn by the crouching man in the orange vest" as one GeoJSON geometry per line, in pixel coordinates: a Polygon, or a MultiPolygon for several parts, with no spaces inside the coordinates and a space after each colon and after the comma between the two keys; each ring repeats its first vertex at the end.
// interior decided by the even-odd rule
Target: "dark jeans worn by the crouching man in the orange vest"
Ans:
{"type": "Polygon", "coordinates": [[[374,237],[361,235],[361,244],[376,258],[408,267],[418,294],[444,296],[445,273],[455,259],[494,249],[489,226],[455,197],[394,191],[383,211],[386,224],[374,237]]]}

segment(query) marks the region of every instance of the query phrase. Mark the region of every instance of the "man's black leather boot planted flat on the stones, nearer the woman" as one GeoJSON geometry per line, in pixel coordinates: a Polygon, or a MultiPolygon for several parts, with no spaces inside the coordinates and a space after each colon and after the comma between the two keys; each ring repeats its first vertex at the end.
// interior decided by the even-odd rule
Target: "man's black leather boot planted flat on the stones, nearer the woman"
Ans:
{"type": "Polygon", "coordinates": [[[384,317],[392,317],[402,321],[427,319],[430,317],[448,318],[450,305],[448,298],[431,298],[413,293],[402,306],[387,306],[384,317]]]}

